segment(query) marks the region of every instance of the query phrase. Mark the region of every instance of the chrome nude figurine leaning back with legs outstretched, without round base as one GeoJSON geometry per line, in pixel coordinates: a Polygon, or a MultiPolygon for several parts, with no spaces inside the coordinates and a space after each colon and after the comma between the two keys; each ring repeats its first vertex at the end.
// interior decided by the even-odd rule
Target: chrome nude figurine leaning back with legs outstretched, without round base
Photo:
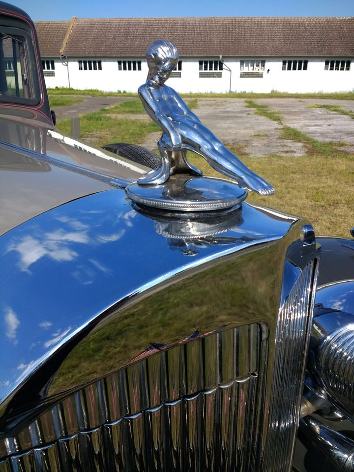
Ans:
{"type": "Polygon", "coordinates": [[[139,87],[139,96],[149,117],[163,131],[157,143],[162,165],[138,180],[140,185],[159,185],[170,174],[202,175],[188,162],[187,150],[204,157],[210,166],[227,177],[236,179],[242,188],[261,195],[274,193],[273,187],[252,172],[187,107],[176,90],[165,85],[178,62],[176,46],[167,40],[154,41],[147,52],[148,79],[139,87]]]}

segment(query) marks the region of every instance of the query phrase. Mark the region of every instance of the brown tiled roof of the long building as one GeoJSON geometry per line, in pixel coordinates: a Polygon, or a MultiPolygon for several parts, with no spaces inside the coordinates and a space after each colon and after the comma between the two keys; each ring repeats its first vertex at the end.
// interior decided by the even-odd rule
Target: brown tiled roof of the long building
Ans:
{"type": "MultiPolygon", "coordinates": [[[[68,25],[36,23],[42,56],[54,46],[59,56],[68,25]]],[[[173,41],[181,57],[354,57],[354,18],[75,19],[63,53],[144,57],[161,38],[173,41]]]]}

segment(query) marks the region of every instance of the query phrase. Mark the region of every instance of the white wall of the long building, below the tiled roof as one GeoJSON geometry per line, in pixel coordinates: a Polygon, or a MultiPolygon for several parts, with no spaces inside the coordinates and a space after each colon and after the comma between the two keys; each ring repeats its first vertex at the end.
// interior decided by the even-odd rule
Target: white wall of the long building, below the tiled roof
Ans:
{"type": "MultiPolygon", "coordinates": [[[[145,60],[142,61],[141,71],[119,71],[117,59],[101,60],[102,70],[79,70],[78,59],[68,59],[66,62],[56,59],[55,77],[46,77],[46,85],[50,88],[68,87],[70,81],[70,87],[74,89],[136,92],[138,87],[146,81],[148,66],[145,60]]],[[[306,71],[283,71],[283,59],[266,59],[263,78],[240,78],[239,59],[225,59],[225,63],[232,71],[232,91],[267,93],[271,90],[284,92],[334,92],[353,90],[354,62],[351,63],[349,71],[325,71],[324,60],[325,59],[308,59],[306,71]],[[267,72],[267,70],[269,70],[269,72],[267,72]]],[[[168,85],[178,92],[184,93],[225,93],[230,89],[230,72],[224,67],[221,78],[200,78],[199,59],[182,59],[181,77],[170,78],[168,85]]]]}

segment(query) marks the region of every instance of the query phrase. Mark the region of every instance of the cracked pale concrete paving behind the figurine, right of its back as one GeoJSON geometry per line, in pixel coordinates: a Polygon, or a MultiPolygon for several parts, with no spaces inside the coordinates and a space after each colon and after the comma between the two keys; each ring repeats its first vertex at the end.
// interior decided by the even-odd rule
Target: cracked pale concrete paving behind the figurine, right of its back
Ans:
{"type": "MultiPolygon", "coordinates": [[[[354,119],[324,108],[309,105],[339,105],[354,111],[352,100],[264,98],[255,99],[270,110],[281,112],[282,124],[255,115],[243,98],[198,98],[194,112],[201,121],[225,144],[237,145],[254,157],[279,155],[296,157],[306,155],[306,146],[281,138],[283,125],[291,126],[313,139],[324,143],[347,143],[347,152],[354,152],[354,119]]],[[[151,134],[144,142],[147,148],[156,148],[159,133],[151,134]]]]}

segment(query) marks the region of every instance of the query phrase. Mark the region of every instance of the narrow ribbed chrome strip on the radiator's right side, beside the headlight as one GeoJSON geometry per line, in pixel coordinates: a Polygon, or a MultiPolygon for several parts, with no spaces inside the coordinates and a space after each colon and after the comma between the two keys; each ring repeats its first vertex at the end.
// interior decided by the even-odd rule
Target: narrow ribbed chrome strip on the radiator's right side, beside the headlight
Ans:
{"type": "Polygon", "coordinates": [[[291,467],[310,329],[314,264],[302,270],[279,312],[265,461],[269,472],[288,471],[291,467]]]}

